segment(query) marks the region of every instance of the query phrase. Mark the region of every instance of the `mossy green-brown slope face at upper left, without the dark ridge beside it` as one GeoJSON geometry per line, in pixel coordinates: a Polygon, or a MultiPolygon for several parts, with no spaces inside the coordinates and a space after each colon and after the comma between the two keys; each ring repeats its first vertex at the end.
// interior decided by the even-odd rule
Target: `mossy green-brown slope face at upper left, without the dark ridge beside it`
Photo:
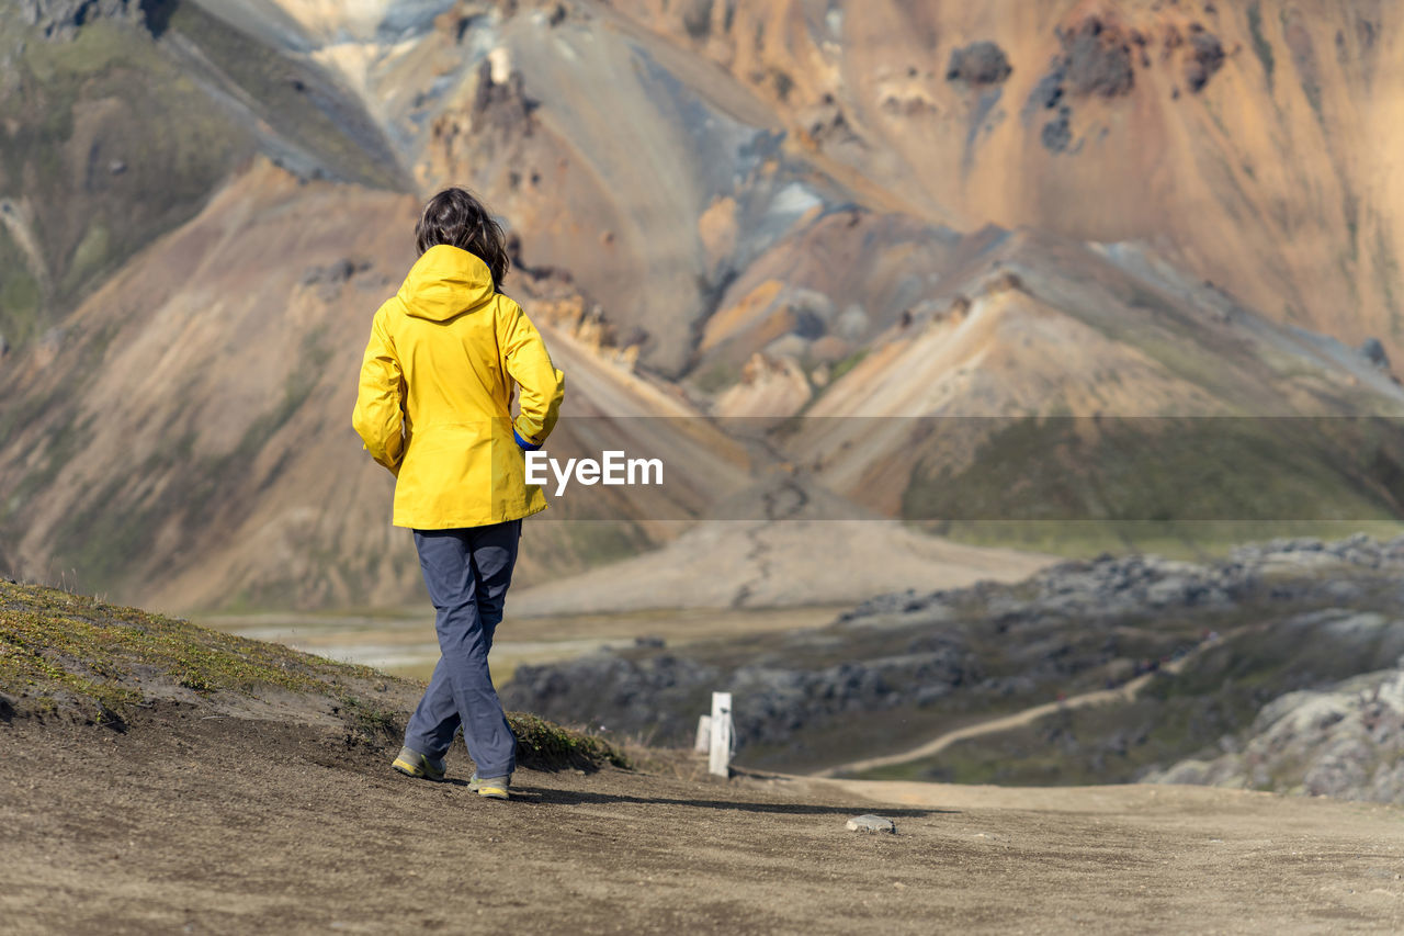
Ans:
{"type": "Polygon", "coordinates": [[[251,152],[251,138],[204,90],[181,87],[176,62],[132,25],[104,20],[70,42],[44,42],[11,21],[0,27],[0,42],[22,44],[11,63],[18,91],[6,101],[14,132],[0,148],[11,188],[0,195],[34,208],[34,233],[58,287],[49,301],[63,311],[194,215],[251,152]],[[72,146],[80,119],[93,134],[81,153],[72,146]],[[111,174],[112,160],[126,170],[111,174]]]}

